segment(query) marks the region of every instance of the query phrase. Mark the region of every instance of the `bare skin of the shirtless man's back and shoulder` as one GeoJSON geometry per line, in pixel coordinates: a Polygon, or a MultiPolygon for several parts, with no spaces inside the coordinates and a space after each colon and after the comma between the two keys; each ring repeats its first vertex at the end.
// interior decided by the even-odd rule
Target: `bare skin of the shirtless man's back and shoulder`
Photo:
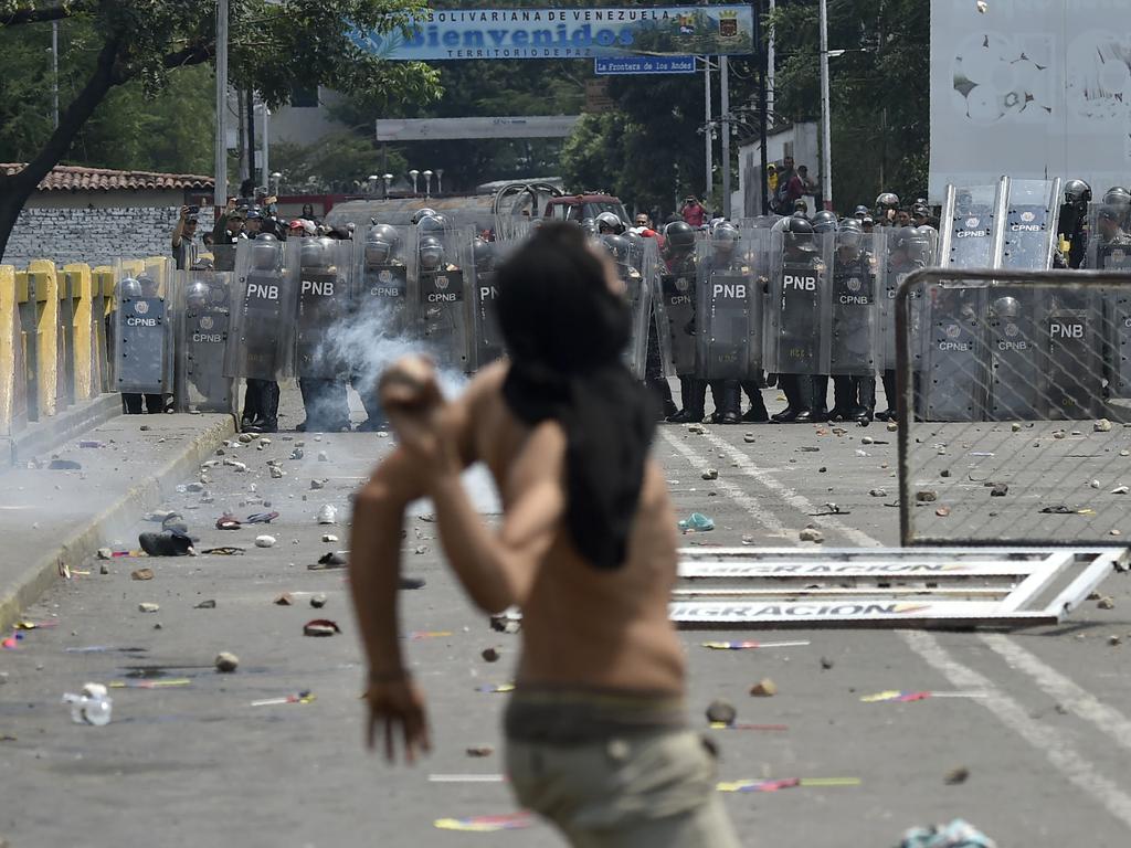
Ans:
{"type": "MultiPolygon", "coordinates": [[[[468,391],[474,450],[503,493],[503,509],[521,494],[513,479],[508,485],[516,464],[549,461],[566,442],[556,422],[532,430],[511,414],[502,397],[506,373],[497,364],[468,391]]],[[[653,461],[622,568],[587,563],[561,521],[523,607],[519,683],[682,692],[683,652],[667,617],[676,539],[667,488],[653,461]]]]}

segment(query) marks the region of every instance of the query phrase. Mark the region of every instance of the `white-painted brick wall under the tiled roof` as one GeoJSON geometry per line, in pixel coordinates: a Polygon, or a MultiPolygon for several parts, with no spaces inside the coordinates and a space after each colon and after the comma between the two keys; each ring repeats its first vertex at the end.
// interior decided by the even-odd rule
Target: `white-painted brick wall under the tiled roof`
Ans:
{"type": "Polygon", "coordinates": [[[113,259],[172,256],[170,239],[180,207],[116,209],[28,209],[19,214],[5,250],[5,265],[17,267],[32,259],[51,259],[57,266],[87,262],[109,265],[113,259]]]}

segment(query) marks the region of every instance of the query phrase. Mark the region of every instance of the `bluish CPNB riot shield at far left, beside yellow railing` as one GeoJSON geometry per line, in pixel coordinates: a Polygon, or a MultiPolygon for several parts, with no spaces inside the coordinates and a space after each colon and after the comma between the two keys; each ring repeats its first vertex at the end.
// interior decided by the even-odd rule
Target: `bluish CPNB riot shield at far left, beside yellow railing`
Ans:
{"type": "Polygon", "coordinates": [[[167,395],[173,390],[173,318],[167,280],[143,263],[115,269],[114,390],[167,395]]]}

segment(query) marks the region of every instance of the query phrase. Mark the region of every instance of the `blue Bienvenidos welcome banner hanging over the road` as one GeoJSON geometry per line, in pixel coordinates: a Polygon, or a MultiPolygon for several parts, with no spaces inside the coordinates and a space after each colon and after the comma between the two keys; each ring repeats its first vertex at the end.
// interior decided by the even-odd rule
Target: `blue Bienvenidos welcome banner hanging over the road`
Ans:
{"type": "Polygon", "coordinates": [[[407,32],[355,32],[381,59],[593,59],[627,55],[746,55],[750,6],[572,9],[433,9],[407,32]]]}

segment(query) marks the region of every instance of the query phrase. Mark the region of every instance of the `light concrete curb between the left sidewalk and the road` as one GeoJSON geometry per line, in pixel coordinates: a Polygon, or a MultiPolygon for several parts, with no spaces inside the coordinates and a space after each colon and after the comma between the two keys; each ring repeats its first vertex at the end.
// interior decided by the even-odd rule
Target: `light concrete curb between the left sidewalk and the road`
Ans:
{"type": "MultiPolygon", "coordinates": [[[[114,399],[118,396],[113,396],[114,399]]],[[[35,603],[59,578],[62,566],[78,568],[88,556],[94,555],[104,544],[104,528],[121,526],[152,510],[166,493],[197,467],[226,439],[235,434],[235,421],[225,417],[193,439],[184,442],[183,450],[174,459],[154,470],[145,481],[136,483],[105,510],[89,519],[75,533],[61,539],[59,546],[46,552],[32,563],[14,582],[0,587],[0,630],[6,630],[19,620],[23,611],[35,603]]]]}

